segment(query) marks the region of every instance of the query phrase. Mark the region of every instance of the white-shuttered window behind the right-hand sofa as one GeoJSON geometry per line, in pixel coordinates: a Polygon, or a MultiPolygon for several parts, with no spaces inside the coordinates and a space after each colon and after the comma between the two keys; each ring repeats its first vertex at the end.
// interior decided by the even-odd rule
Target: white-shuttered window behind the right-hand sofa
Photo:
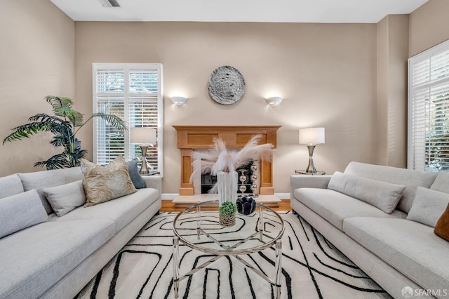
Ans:
{"type": "Polygon", "coordinates": [[[408,168],[449,171],[449,41],[408,60],[408,168]]]}

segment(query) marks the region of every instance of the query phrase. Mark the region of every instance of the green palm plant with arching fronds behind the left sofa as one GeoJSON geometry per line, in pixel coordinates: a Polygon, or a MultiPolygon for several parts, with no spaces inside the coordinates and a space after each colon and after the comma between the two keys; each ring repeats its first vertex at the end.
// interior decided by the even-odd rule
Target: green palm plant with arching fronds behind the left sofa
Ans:
{"type": "Polygon", "coordinates": [[[47,95],[45,99],[52,105],[55,116],[45,113],[36,114],[29,118],[29,121],[31,121],[29,124],[13,128],[13,133],[3,140],[3,144],[5,144],[5,142],[29,138],[39,132],[53,133],[51,145],[55,147],[62,146],[64,151],[60,154],[55,154],[46,161],[38,161],[34,166],[45,166],[46,169],[79,166],[79,160],[86,157],[87,151],[81,149],[81,141],[76,138],[76,133],[94,117],[105,119],[111,126],[119,130],[126,129],[124,121],[116,115],[94,113],[84,121],[83,114],[73,109],[74,102],[72,99],[55,97],[53,95],[47,95]]]}

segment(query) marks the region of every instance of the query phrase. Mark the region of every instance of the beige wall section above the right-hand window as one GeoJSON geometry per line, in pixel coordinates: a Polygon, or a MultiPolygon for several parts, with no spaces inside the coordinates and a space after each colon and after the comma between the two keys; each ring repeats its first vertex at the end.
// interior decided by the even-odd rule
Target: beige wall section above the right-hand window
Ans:
{"type": "Polygon", "coordinates": [[[409,57],[448,40],[448,28],[448,0],[429,0],[411,13],[409,57]]]}

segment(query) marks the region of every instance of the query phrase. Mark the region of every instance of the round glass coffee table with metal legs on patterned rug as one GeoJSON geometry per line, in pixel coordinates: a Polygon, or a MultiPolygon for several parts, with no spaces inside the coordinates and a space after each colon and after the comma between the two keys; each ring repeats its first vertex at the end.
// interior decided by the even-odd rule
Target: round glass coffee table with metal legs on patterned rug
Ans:
{"type": "Polygon", "coordinates": [[[173,220],[173,289],[178,297],[179,283],[223,256],[234,256],[243,265],[274,286],[275,298],[281,297],[281,237],[284,231],[281,215],[257,204],[250,215],[236,214],[236,224],[223,227],[218,220],[218,201],[203,201],[185,208],[173,220]],[[266,228],[267,227],[267,228],[266,228]],[[179,242],[190,248],[215,255],[205,263],[180,276],[179,242]],[[274,279],[250,265],[239,255],[275,246],[274,279]]]}

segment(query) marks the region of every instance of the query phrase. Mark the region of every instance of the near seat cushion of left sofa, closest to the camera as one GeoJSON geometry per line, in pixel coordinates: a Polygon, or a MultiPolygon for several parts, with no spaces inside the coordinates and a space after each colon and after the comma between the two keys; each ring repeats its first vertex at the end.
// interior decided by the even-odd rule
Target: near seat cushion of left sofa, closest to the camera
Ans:
{"type": "Polygon", "coordinates": [[[0,298],[39,298],[114,233],[112,220],[74,220],[43,222],[1,239],[0,298]]]}

